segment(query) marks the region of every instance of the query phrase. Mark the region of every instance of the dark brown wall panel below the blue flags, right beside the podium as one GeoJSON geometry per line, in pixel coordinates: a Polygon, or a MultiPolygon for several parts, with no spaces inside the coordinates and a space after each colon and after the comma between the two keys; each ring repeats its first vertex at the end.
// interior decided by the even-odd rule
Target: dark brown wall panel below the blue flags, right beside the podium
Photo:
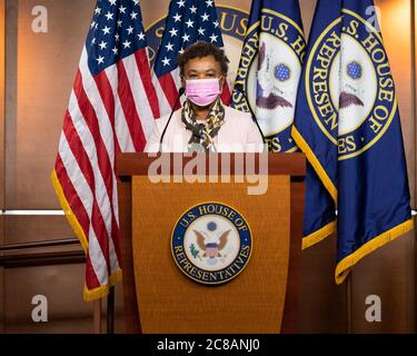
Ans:
{"type": "Polygon", "coordinates": [[[346,333],[346,285],[335,283],[336,238],[302,251],[300,333],[346,333]]]}

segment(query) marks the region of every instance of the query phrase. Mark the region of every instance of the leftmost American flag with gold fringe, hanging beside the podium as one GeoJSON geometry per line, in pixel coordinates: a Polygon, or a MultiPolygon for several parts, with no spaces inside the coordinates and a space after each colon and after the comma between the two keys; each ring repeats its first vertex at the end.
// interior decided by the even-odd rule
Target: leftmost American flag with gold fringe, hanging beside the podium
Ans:
{"type": "Polygon", "coordinates": [[[98,0],[52,172],[86,251],[86,300],[121,277],[115,156],[142,151],[157,117],[139,1],[98,0]]]}

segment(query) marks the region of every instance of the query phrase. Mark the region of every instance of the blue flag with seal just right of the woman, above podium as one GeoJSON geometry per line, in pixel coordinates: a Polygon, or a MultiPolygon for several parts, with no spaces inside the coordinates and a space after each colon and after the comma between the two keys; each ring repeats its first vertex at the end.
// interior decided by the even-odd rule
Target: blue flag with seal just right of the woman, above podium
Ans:
{"type": "Polygon", "coordinates": [[[298,0],[252,1],[230,106],[252,108],[269,151],[297,150],[291,126],[305,51],[298,0]]]}

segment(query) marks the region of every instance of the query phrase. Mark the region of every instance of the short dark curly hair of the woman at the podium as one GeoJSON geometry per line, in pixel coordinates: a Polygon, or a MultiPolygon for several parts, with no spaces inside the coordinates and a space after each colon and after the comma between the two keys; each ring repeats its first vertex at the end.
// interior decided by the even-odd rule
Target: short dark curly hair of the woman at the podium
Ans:
{"type": "Polygon", "coordinates": [[[225,55],[225,51],[211,42],[198,41],[188,47],[181,55],[178,56],[178,66],[180,75],[183,75],[183,68],[187,62],[195,58],[215,57],[215,60],[220,63],[221,75],[225,77],[229,71],[229,59],[225,55]]]}

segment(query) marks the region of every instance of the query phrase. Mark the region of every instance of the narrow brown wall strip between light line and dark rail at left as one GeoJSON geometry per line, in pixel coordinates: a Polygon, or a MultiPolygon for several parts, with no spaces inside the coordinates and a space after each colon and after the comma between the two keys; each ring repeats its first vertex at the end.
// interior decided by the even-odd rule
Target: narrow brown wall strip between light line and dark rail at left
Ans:
{"type": "Polygon", "coordinates": [[[4,243],[19,244],[49,239],[75,238],[64,216],[7,216],[4,243]]]}

